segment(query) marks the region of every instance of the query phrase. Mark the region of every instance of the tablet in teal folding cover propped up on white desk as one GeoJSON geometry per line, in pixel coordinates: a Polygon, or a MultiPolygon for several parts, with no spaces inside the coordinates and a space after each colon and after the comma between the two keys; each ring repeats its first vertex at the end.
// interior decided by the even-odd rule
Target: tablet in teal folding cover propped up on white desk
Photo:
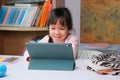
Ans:
{"type": "Polygon", "coordinates": [[[29,69],[74,70],[72,44],[70,43],[26,43],[30,55],[29,69]]]}

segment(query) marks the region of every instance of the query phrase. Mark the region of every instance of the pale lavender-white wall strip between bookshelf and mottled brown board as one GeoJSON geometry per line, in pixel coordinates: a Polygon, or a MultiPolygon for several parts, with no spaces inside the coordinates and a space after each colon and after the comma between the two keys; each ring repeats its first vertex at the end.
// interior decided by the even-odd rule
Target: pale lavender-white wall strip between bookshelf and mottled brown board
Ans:
{"type": "Polygon", "coordinates": [[[71,11],[73,27],[80,40],[80,3],[81,0],[65,0],[65,7],[71,11]]]}

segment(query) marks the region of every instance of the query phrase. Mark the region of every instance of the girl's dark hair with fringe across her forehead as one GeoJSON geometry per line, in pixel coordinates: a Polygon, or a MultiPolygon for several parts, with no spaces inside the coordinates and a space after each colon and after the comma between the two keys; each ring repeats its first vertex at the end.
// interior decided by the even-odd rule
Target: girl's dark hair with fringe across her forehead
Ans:
{"type": "Polygon", "coordinates": [[[56,24],[58,19],[62,26],[67,25],[68,29],[72,30],[73,22],[71,13],[67,8],[59,7],[51,10],[46,25],[49,26],[50,24],[56,24]]]}

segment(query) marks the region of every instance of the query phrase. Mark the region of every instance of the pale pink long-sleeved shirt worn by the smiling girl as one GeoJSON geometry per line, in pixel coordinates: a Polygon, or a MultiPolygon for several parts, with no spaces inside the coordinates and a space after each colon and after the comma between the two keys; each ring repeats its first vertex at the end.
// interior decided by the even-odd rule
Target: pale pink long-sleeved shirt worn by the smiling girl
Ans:
{"type": "MultiPolygon", "coordinates": [[[[49,43],[49,39],[50,39],[49,35],[46,35],[37,43],[49,43]]],[[[79,45],[79,41],[78,41],[77,37],[75,35],[68,35],[68,37],[66,38],[64,43],[71,43],[72,44],[74,59],[77,59],[78,45],[79,45]]],[[[29,53],[27,50],[25,50],[25,52],[24,52],[24,57],[26,60],[29,58],[29,53]]]]}

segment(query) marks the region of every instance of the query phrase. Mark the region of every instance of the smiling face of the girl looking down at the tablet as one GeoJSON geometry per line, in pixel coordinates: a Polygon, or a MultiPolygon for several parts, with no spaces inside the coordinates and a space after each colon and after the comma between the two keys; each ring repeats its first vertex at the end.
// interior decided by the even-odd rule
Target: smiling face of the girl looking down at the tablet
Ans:
{"type": "Polygon", "coordinates": [[[56,24],[51,24],[49,26],[49,35],[53,39],[54,42],[64,42],[66,37],[68,36],[68,27],[62,26],[57,20],[56,24]]]}

